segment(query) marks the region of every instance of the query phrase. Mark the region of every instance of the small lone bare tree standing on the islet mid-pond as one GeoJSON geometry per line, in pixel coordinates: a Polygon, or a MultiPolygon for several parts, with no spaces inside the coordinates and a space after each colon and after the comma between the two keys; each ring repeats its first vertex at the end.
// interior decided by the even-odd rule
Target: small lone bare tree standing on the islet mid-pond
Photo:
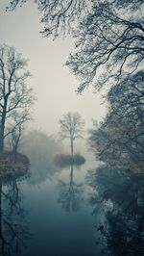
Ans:
{"type": "Polygon", "coordinates": [[[74,141],[82,138],[84,120],[79,113],[67,113],[60,119],[60,137],[61,139],[69,139],[71,155],[74,153],[74,141]]]}

